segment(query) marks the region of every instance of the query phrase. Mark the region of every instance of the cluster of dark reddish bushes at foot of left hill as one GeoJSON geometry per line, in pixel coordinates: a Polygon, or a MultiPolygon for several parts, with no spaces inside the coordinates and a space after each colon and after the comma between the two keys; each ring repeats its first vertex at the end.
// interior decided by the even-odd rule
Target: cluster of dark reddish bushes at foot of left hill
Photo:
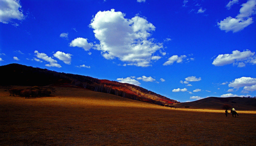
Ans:
{"type": "Polygon", "coordinates": [[[50,96],[52,91],[48,88],[42,87],[28,87],[28,88],[12,88],[9,90],[10,96],[21,96],[25,98],[29,97],[43,97],[43,96],[50,96]]]}

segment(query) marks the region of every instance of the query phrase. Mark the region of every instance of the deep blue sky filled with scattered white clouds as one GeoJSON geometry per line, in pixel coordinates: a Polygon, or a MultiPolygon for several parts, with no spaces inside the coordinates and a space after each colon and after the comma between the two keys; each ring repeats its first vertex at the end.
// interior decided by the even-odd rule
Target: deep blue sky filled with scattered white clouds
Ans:
{"type": "Polygon", "coordinates": [[[1,0],[0,65],[139,85],[180,102],[256,96],[256,0],[1,0]]]}

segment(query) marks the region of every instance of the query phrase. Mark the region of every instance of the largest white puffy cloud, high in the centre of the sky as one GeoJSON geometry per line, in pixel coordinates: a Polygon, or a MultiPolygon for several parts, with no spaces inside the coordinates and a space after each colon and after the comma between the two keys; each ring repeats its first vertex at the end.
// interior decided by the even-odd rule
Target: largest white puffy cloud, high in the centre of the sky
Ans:
{"type": "Polygon", "coordinates": [[[92,19],[90,27],[100,44],[95,49],[100,50],[106,59],[119,58],[127,65],[140,67],[151,66],[151,61],[159,59],[154,53],[162,44],[148,39],[150,32],[156,27],[145,18],[135,16],[131,19],[124,18],[125,14],[114,9],[99,11],[92,19]]]}

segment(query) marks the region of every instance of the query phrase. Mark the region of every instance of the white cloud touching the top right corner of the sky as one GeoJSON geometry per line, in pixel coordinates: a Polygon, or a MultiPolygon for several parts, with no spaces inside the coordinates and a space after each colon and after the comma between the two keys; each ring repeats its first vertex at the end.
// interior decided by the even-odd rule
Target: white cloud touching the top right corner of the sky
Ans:
{"type": "Polygon", "coordinates": [[[243,30],[245,27],[253,23],[252,15],[255,14],[256,10],[256,0],[248,0],[246,3],[242,4],[240,13],[237,14],[236,18],[227,17],[224,20],[218,22],[220,30],[225,30],[226,32],[232,31],[233,33],[243,30]]]}

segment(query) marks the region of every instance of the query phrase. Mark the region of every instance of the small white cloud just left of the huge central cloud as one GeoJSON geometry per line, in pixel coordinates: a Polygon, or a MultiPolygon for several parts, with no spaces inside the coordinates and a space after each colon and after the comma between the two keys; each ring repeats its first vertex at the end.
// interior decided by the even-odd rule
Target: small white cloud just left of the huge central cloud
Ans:
{"type": "Polygon", "coordinates": [[[93,46],[92,43],[88,43],[87,39],[76,38],[69,44],[70,47],[82,47],[85,51],[89,51],[93,46]]]}

